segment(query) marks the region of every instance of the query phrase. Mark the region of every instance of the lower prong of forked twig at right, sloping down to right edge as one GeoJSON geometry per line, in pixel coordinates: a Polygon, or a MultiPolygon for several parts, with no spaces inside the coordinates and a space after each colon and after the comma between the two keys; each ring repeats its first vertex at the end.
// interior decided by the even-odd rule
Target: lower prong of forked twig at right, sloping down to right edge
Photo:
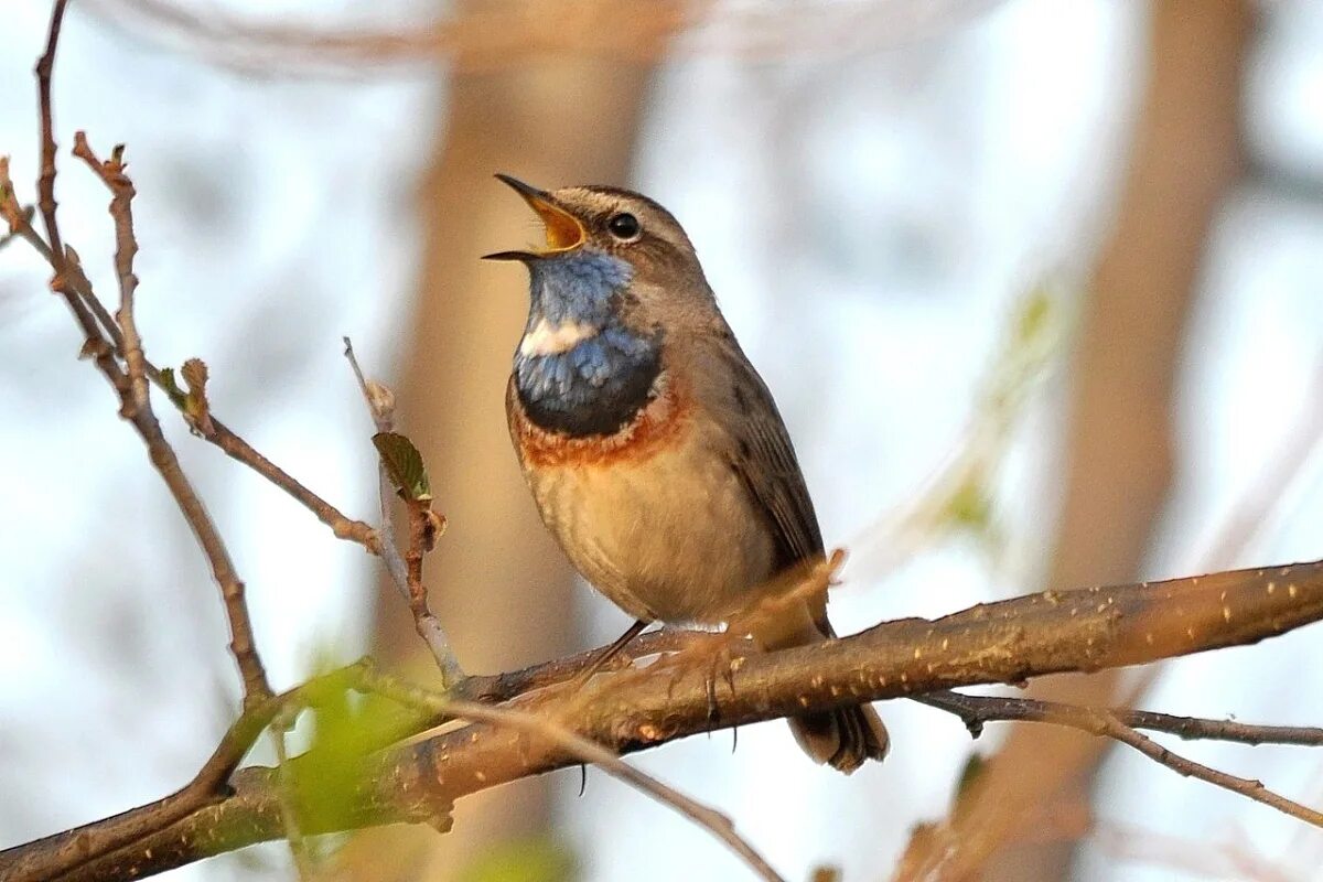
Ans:
{"type": "MultiPolygon", "coordinates": [[[[957,715],[964,718],[963,713],[954,710],[957,703],[959,706],[968,706],[968,702],[953,702],[950,696],[953,693],[937,693],[931,696],[916,696],[916,701],[933,705],[934,707],[941,707],[943,710],[951,710],[957,715]]],[[[960,700],[971,698],[970,696],[959,696],[960,700]]],[[[1049,701],[1036,701],[1032,707],[1027,707],[1023,715],[1008,715],[1008,719],[1025,719],[1031,722],[1045,722],[1054,723],[1058,726],[1069,726],[1070,729],[1078,729],[1081,731],[1090,733],[1093,735],[1102,735],[1111,738],[1127,747],[1138,750],[1140,754],[1152,759],[1167,768],[1184,775],[1187,778],[1197,778],[1203,782],[1208,782],[1216,787],[1232,791],[1233,793],[1240,793],[1248,796],[1249,799],[1262,803],[1275,808],[1277,811],[1290,815],[1291,817],[1299,819],[1306,824],[1323,828],[1323,813],[1311,809],[1306,805],[1286,799],[1285,796],[1270,791],[1263,787],[1262,782],[1250,780],[1248,778],[1237,778],[1236,775],[1229,775],[1226,772],[1211,768],[1201,763],[1196,763],[1192,759],[1187,759],[1179,754],[1175,754],[1158,742],[1152,741],[1147,735],[1135,731],[1131,726],[1122,722],[1118,714],[1107,709],[1097,707],[1080,707],[1076,705],[1066,705],[1049,701]]],[[[1150,719],[1148,722],[1160,722],[1150,719]]],[[[1212,721],[1209,721],[1212,722],[1212,721]]],[[[976,731],[976,729],[971,729],[976,731]]],[[[1316,742],[1307,742],[1316,743],[1316,742]]]]}

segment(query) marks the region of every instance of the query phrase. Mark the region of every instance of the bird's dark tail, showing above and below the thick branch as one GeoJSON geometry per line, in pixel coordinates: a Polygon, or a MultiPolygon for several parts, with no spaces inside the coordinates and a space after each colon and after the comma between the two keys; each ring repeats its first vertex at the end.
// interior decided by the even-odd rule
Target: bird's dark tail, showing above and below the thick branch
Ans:
{"type": "MultiPolygon", "coordinates": [[[[803,614],[799,623],[786,616],[771,628],[759,629],[755,637],[765,649],[785,649],[836,636],[824,610],[819,607],[819,615],[811,615],[806,604],[803,614]]],[[[815,763],[827,763],[847,775],[869,759],[884,759],[890,746],[886,726],[869,705],[790,717],[787,722],[795,741],[815,763]]]]}

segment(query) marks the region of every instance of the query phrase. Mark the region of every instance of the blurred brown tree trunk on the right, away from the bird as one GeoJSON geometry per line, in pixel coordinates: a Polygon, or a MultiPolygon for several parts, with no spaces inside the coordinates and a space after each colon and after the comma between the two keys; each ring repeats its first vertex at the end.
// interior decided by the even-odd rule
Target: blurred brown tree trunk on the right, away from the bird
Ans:
{"type": "MultiPolygon", "coordinates": [[[[1253,32],[1248,0],[1158,0],[1150,79],[1117,226],[1086,303],[1073,365],[1069,461],[1049,587],[1140,578],[1172,473],[1172,385],[1209,229],[1241,175],[1240,98],[1253,32]]],[[[1031,694],[1107,705],[1119,672],[1040,681],[1031,694]]],[[[1074,842],[1015,844],[1032,813],[1086,803],[1107,742],[1050,726],[1017,726],[998,754],[1011,785],[986,807],[1021,826],[987,879],[1068,878],[1074,842]]],[[[988,776],[992,778],[991,775],[988,776]]],[[[988,780],[990,793],[998,787],[988,780]]],[[[1049,837],[1050,838],[1050,837],[1049,837]]]]}

